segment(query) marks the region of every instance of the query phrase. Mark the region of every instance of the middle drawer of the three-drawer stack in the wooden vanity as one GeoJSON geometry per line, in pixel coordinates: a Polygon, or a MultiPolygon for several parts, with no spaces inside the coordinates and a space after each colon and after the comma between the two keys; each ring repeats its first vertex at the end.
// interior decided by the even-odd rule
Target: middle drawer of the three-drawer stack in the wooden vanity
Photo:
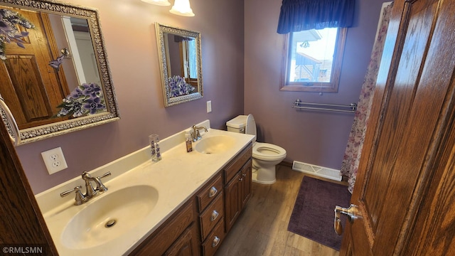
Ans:
{"type": "Polygon", "coordinates": [[[213,203],[211,203],[199,216],[201,240],[204,240],[208,233],[210,233],[210,230],[218,223],[218,220],[223,218],[223,213],[223,193],[220,192],[220,195],[215,198],[215,201],[213,201],[213,203]]]}

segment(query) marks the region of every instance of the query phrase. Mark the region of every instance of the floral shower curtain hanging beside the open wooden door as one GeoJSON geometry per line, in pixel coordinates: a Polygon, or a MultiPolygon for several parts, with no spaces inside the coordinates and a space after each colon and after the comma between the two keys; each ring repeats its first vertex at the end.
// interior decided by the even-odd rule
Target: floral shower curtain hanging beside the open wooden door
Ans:
{"type": "Polygon", "coordinates": [[[378,26],[376,41],[373,46],[373,52],[371,53],[365,80],[363,80],[357,111],[355,112],[353,126],[350,129],[348,145],[346,146],[343,163],[341,165],[341,174],[343,176],[348,176],[348,191],[350,193],[353,193],[355,176],[357,176],[360,154],[363,147],[363,139],[365,138],[368,117],[370,115],[371,104],[373,102],[373,92],[375,90],[376,78],[378,78],[378,70],[382,50],[384,49],[384,41],[387,34],[387,27],[389,25],[391,9],[392,4],[390,3],[382,5],[382,14],[378,26]]]}

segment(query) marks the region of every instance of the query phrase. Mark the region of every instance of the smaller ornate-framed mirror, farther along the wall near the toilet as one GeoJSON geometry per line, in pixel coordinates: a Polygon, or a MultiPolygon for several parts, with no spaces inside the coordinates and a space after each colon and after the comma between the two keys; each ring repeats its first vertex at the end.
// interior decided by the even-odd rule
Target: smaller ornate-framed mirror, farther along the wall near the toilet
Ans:
{"type": "Polygon", "coordinates": [[[203,97],[200,33],[156,23],[164,106],[203,97]]]}

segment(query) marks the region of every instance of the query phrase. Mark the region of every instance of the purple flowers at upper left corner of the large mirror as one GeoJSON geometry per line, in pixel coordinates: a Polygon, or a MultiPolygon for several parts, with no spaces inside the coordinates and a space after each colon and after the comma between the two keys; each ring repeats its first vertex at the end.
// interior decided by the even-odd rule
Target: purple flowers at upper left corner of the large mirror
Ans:
{"type": "Polygon", "coordinates": [[[18,14],[16,11],[10,9],[0,9],[0,58],[6,60],[5,42],[14,42],[17,46],[23,46],[24,41],[21,39],[28,36],[28,31],[18,31],[16,25],[23,26],[24,28],[35,28],[35,26],[27,21],[26,18],[18,14]]]}

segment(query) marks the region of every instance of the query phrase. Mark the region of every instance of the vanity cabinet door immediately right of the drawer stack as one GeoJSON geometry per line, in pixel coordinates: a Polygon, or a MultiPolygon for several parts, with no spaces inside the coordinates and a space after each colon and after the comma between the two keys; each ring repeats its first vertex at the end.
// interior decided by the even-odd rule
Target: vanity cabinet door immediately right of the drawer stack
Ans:
{"type": "Polygon", "coordinates": [[[225,225],[226,233],[234,225],[237,216],[240,213],[240,172],[232,178],[232,181],[225,186],[225,225]]]}

